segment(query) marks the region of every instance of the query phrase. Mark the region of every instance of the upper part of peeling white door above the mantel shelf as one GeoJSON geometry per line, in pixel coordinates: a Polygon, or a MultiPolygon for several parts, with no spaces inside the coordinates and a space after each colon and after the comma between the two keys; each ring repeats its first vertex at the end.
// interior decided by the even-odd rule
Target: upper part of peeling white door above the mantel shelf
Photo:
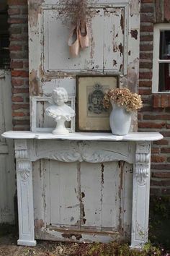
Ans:
{"type": "MultiPolygon", "coordinates": [[[[91,45],[76,59],[68,53],[69,30],[56,18],[58,1],[28,0],[28,3],[30,95],[49,96],[57,85],[67,91],[69,88],[68,93],[75,96],[76,74],[80,72],[120,74],[121,86],[138,90],[140,1],[135,4],[134,0],[95,1],[91,7],[96,11],[90,25],[91,45]]],[[[31,108],[31,119],[32,111],[31,108]]],[[[41,118],[43,113],[40,111],[38,115],[41,118]]],[[[131,130],[135,131],[135,115],[133,120],[131,130]]]]}

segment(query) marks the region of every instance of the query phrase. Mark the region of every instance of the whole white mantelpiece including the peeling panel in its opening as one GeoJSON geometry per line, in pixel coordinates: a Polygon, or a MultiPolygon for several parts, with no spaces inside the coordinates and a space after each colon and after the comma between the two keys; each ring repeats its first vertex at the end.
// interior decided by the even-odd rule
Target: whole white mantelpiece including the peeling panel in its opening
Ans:
{"type": "Polygon", "coordinates": [[[131,247],[147,242],[151,141],[162,135],[3,136],[15,139],[18,244],[34,246],[35,237],[109,242],[129,239],[130,233],[131,247]]]}

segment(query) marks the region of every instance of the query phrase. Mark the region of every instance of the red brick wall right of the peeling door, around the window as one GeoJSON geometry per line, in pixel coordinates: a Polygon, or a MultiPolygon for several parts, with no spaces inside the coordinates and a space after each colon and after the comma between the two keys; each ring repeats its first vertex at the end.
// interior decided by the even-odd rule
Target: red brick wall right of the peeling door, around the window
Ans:
{"type": "Polygon", "coordinates": [[[138,130],[164,135],[152,146],[151,194],[155,195],[170,195],[170,95],[151,94],[153,24],[169,21],[169,0],[141,1],[139,93],[144,106],[138,114],[138,130]]]}

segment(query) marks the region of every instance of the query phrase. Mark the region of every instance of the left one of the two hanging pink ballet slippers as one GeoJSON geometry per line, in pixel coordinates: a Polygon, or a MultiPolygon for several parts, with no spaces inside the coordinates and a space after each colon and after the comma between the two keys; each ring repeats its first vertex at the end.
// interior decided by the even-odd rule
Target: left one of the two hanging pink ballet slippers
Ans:
{"type": "Polygon", "coordinates": [[[77,27],[74,27],[71,31],[71,35],[68,38],[68,46],[71,57],[76,58],[77,56],[79,56],[80,44],[77,27]]]}

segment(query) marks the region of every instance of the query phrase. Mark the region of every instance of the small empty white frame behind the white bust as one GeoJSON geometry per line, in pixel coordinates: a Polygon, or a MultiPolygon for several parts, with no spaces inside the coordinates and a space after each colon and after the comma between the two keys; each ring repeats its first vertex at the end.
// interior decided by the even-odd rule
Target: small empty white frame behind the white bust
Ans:
{"type": "MultiPolygon", "coordinates": [[[[32,115],[31,131],[52,132],[56,127],[56,122],[45,113],[45,109],[50,106],[49,101],[51,97],[32,96],[30,100],[32,115]]],[[[66,104],[75,109],[75,97],[68,95],[68,102],[66,104]]],[[[65,125],[69,132],[75,132],[75,117],[71,121],[66,121],[65,125]]]]}

